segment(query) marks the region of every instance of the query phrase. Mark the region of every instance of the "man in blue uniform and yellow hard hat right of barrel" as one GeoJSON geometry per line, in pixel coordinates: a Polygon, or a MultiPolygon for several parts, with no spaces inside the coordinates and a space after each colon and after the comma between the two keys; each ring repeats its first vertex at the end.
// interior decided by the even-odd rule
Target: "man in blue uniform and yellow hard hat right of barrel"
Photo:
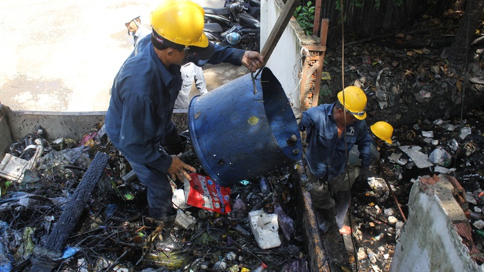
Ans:
{"type": "Polygon", "coordinates": [[[347,191],[344,175],[347,155],[358,145],[360,175],[368,175],[370,144],[366,118],[366,95],[350,86],[338,93],[338,101],[322,104],[302,112],[300,130],[306,130],[306,174],[312,183],[311,200],[316,212],[322,213],[320,230],[326,233],[334,225],[335,207],[341,210],[347,191]]]}

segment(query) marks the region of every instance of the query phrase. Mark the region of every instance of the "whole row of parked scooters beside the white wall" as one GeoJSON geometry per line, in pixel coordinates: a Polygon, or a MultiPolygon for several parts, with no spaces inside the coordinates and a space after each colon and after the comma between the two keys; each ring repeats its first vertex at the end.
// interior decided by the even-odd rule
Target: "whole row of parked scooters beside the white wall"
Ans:
{"type": "MultiPolygon", "coordinates": [[[[230,45],[239,49],[259,51],[259,20],[248,14],[248,3],[241,0],[232,0],[230,3],[227,1],[225,8],[204,8],[205,35],[211,42],[221,46],[230,45]]],[[[260,1],[258,2],[260,5],[260,1]]]]}

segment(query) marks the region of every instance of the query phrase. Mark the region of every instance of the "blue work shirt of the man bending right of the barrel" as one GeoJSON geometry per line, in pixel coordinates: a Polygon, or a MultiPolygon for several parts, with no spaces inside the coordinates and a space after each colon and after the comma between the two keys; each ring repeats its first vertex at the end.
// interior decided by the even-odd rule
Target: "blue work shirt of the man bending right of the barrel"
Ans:
{"type": "Polygon", "coordinates": [[[306,162],[317,178],[331,180],[346,169],[346,155],[357,144],[362,167],[370,167],[371,137],[365,121],[356,120],[338,138],[338,126],[333,117],[336,103],[322,104],[302,112],[300,130],[306,130],[306,162]],[[347,147],[345,148],[345,144],[347,147]],[[347,151],[347,152],[346,152],[347,151]]]}

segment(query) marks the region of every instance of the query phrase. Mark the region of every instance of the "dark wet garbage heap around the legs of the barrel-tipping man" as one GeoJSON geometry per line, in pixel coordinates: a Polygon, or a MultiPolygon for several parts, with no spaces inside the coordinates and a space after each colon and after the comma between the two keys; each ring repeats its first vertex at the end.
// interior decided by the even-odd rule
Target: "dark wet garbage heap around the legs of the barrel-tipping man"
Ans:
{"type": "MultiPolygon", "coordinates": [[[[294,169],[225,188],[230,209],[218,212],[188,205],[185,198],[195,186],[173,180],[180,250],[162,251],[153,245],[160,228],[148,217],[145,188],[130,176],[129,163],[101,124],[80,141],[46,138],[46,129],[39,127],[7,151],[27,162],[35,154],[33,146],[43,146],[36,167],[19,180],[0,181],[2,271],[28,271],[31,255],[46,243],[98,151],[110,160],[87,206],[80,207],[84,212],[57,271],[309,271],[297,228],[294,169]]],[[[192,175],[209,178],[190,143],[182,156],[198,169],[192,175]]]]}

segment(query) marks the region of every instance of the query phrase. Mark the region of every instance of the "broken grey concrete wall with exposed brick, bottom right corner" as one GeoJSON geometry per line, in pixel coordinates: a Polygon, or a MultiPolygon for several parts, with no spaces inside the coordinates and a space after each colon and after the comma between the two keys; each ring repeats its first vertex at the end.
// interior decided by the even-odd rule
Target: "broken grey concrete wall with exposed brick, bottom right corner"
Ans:
{"type": "Polygon", "coordinates": [[[445,175],[424,176],[414,183],[408,221],[390,271],[484,271],[469,254],[476,249],[465,246],[457,231],[470,235],[471,227],[452,192],[449,176],[445,175]]]}

